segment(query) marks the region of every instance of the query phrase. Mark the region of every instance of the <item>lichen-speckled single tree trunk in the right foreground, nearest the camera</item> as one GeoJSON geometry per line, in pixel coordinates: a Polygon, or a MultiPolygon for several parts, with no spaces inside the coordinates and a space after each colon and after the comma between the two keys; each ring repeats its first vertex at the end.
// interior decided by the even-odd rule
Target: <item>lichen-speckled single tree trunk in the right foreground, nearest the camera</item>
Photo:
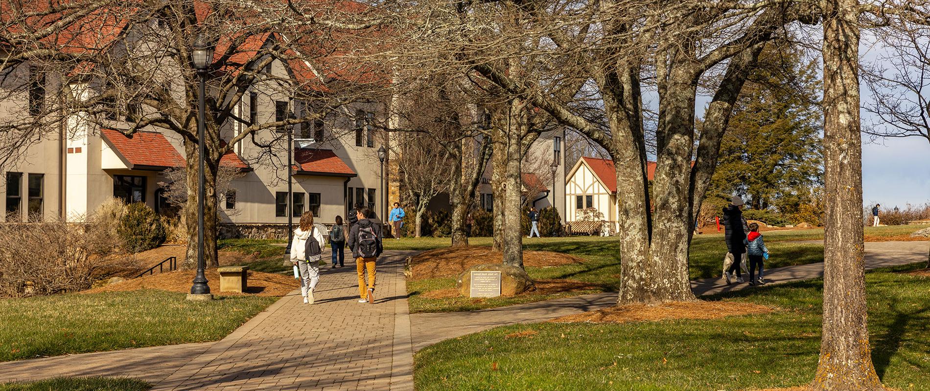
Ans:
{"type": "Polygon", "coordinates": [[[862,228],[857,0],[823,3],[823,335],[815,390],[881,390],[869,350],[862,228]]]}

